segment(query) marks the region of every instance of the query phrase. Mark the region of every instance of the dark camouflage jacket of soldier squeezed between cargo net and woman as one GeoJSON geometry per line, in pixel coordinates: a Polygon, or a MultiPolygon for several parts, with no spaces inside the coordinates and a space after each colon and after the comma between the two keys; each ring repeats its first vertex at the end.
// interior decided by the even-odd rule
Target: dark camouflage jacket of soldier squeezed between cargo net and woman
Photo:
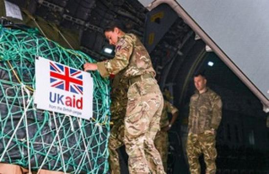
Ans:
{"type": "Polygon", "coordinates": [[[127,107],[128,80],[122,78],[124,71],[118,73],[112,82],[111,89],[111,120],[123,119],[127,107]]]}

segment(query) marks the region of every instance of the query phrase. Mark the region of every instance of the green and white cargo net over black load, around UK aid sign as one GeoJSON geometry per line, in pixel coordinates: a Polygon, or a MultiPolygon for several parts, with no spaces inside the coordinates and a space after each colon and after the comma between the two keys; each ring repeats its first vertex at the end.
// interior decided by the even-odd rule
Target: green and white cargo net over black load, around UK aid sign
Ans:
{"type": "Polygon", "coordinates": [[[13,30],[0,25],[0,163],[32,171],[107,173],[109,80],[91,72],[90,120],[39,110],[33,103],[37,56],[76,69],[82,69],[86,61],[94,62],[80,51],[40,36],[35,29],[13,30]]]}

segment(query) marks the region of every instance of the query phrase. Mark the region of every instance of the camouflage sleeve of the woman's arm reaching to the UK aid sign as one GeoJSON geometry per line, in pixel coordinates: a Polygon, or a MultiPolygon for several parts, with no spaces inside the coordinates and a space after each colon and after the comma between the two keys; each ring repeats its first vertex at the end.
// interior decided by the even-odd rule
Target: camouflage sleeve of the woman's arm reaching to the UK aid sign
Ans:
{"type": "Polygon", "coordinates": [[[102,77],[108,77],[110,74],[117,74],[120,70],[127,67],[129,64],[129,59],[133,53],[134,45],[133,38],[126,35],[124,38],[119,40],[116,45],[115,57],[98,62],[97,67],[102,77]]]}

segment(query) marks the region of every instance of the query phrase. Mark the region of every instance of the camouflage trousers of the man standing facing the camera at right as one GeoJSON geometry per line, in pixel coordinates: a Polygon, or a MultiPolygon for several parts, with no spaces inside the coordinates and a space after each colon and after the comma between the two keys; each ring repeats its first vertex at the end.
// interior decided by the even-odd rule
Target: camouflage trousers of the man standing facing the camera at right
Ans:
{"type": "Polygon", "coordinates": [[[204,155],[206,164],[206,174],[216,173],[217,150],[215,148],[216,135],[211,131],[205,131],[202,134],[188,134],[187,155],[191,174],[201,174],[199,156],[204,155]]]}

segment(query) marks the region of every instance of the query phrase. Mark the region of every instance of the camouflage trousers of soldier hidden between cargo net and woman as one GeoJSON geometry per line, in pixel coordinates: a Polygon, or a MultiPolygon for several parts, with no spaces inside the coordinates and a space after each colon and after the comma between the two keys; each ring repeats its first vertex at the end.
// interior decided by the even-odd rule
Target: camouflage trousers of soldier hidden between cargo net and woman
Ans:
{"type": "Polygon", "coordinates": [[[119,155],[116,150],[124,144],[123,138],[124,123],[123,119],[120,119],[114,122],[109,137],[110,174],[120,174],[119,155]]]}

